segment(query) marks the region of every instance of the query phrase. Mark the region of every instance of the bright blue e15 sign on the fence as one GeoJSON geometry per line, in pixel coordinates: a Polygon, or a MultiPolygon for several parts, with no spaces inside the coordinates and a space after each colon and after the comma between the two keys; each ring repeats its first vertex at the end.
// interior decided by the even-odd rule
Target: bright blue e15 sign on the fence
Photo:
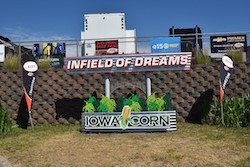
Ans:
{"type": "Polygon", "coordinates": [[[151,52],[181,52],[180,37],[151,38],[151,52]]]}

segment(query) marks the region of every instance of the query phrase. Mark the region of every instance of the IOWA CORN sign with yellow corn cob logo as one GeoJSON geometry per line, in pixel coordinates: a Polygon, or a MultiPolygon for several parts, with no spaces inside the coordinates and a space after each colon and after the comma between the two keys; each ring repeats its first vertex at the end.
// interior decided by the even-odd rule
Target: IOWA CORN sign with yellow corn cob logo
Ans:
{"type": "MultiPolygon", "coordinates": [[[[176,130],[175,111],[82,113],[82,132],[153,132],[176,130]]],[[[130,108],[130,107],[127,107],[130,108]]]]}

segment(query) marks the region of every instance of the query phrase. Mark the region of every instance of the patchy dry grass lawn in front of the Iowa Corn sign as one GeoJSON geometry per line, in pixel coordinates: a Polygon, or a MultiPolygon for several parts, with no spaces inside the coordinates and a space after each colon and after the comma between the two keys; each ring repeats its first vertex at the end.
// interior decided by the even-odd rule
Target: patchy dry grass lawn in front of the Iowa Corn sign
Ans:
{"type": "Polygon", "coordinates": [[[176,132],[81,134],[38,125],[0,136],[13,167],[250,166],[250,129],[179,123],[176,132]]]}

